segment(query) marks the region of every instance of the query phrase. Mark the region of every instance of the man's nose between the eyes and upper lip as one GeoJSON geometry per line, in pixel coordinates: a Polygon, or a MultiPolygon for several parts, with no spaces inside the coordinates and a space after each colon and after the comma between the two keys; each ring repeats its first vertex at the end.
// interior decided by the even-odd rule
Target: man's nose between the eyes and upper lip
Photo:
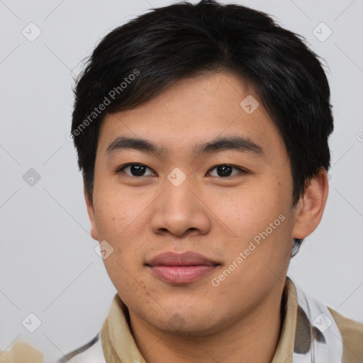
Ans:
{"type": "Polygon", "coordinates": [[[187,177],[179,186],[166,180],[164,192],[153,203],[150,225],[154,233],[181,237],[203,235],[211,229],[206,201],[191,179],[187,177]]]}

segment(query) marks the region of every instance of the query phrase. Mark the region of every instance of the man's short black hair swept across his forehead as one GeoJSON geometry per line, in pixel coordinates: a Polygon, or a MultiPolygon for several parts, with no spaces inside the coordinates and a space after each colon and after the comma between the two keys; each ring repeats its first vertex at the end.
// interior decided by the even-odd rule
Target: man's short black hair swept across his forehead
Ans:
{"type": "Polygon", "coordinates": [[[295,205],[311,177],[330,167],[332,106],[318,58],[305,38],[267,13],[213,0],[152,9],[112,30],[74,86],[72,137],[90,200],[106,114],[139,106],[179,79],[228,70],[255,90],[281,133],[295,205]]]}

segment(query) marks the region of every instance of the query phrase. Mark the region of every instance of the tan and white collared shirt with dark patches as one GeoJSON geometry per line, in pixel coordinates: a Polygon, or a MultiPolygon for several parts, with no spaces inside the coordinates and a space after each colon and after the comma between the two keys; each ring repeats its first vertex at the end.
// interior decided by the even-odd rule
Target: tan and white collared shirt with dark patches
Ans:
{"type": "MultiPolygon", "coordinates": [[[[346,318],[306,295],[289,277],[286,277],[282,304],[281,335],[272,363],[363,362],[363,323],[346,318]]],[[[26,362],[43,363],[43,354],[26,342],[15,342],[9,352],[0,350],[0,363],[26,362]]],[[[145,362],[128,324],[128,308],[118,294],[113,297],[101,332],[57,361],[64,362],[145,362]],[[109,331],[112,333],[108,336],[109,331]],[[109,341],[113,336],[115,346],[110,350],[109,341]],[[110,352],[114,354],[112,357],[110,352]]]]}

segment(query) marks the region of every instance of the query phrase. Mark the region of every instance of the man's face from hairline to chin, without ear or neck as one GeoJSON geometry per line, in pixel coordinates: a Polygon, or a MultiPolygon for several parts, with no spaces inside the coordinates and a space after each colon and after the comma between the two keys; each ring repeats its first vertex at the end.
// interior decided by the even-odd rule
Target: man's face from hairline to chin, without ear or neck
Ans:
{"type": "Polygon", "coordinates": [[[257,94],[232,73],[203,74],[106,116],[91,234],[113,248],[104,264],[132,318],[212,333],[281,293],[292,191],[286,148],[257,94]]]}

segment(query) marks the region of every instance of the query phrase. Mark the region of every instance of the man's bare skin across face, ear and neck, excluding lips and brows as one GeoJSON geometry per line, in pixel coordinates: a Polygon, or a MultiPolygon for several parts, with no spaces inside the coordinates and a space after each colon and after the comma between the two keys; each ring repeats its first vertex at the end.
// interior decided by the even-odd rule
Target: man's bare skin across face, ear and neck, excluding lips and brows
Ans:
{"type": "Polygon", "coordinates": [[[262,102],[251,114],[241,108],[248,94],[259,101],[233,73],[202,74],[179,80],[142,106],[107,115],[101,125],[93,203],[84,189],[91,235],[113,246],[104,264],[128,306],[147,363],[267,363],[274,357],[293,238],[305,238],[320,222],[328,179],[321,169],[292,205],[286,147],[262,102]],[[147,139],[167,152],[128,149],[106,155],[121,135],[147,139]],[[263,155],[191,154],[195,144],[236,135],[262,147],[263,155]],[[130,167],[116,174],[130,162],[144,164],[145,176],[133,176],[130,167]],[[220,164],[245,172],[232,169],[231,176],[221,177],[220,164]],[[186,176],[179,186],[167,179],[176,167],[186,176]],[[213,286],[211,279],[279,215],[284,221],[213,286]],[[168,284],[145,266],[167,251],[198,252],[220,266],[190,284],[168,284]]]}

